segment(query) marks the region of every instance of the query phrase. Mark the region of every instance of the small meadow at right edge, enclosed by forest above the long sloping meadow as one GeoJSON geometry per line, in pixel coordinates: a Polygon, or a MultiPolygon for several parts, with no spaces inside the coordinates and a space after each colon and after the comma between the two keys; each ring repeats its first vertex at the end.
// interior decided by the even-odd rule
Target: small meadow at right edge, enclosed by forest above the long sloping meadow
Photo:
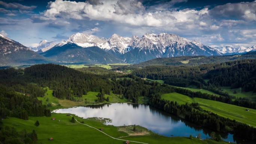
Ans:
{"type": "Polygon", "coordinates": [[[240,88],[236,88],[236,89],[231,89],[230,86],[225,86],[225,87],[221,87],[223,92],[227,92],[229,95],[233,95],[237,98],[248,98],[252,101],[256,101],[256,93],[253,93],[253,91],[250,92],[243,92],[241,90],[240,93],[240,88]],[[237,94],[234,94],[234,91],[237,92],[237,94]]]}

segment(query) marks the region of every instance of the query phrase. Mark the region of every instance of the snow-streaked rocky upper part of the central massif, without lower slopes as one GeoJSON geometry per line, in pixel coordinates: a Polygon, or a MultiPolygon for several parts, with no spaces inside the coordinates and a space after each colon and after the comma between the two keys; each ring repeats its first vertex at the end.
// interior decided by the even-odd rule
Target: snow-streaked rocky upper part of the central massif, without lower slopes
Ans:
{"type": "MultiPolygon", "coordinates": [[[[83,48],[88,48],[92,46],[97,46],[106,51],[112,50],[115,53],[124,54],[132,49],[149,50],[159,53],[158,57],[161,57],[164,53],[169,51],[170,56],[186,55],[185,50],[191,50],[191,55],[201,55],[205,51],[206,55],[219,55],[219,51],[203,45],[199,42],[189,41],[183,37],[177,36],[176,34],[144,34],[141,38],[137,36],[132,37],[122,37],[118,34],[113,34],[109,39],[98,38],[97,36],[76,33],[70,36],[66,41],[58,44],[58,46],[63,46],[70,43],[75,43],[83,48]],[[192,49],[196,48],[198,50],[192,49]],[[177,52],[177,51],[181,51],[177,52]],[[171,52],[170,52],[171,51],[171,52]],[[213,51],[213,52],[212,52],[213,51]]],[[[190,55],[189,54],[189,55],[190,55]]],[[[169,55],[169,54],[168,54],[169,55]]]]}

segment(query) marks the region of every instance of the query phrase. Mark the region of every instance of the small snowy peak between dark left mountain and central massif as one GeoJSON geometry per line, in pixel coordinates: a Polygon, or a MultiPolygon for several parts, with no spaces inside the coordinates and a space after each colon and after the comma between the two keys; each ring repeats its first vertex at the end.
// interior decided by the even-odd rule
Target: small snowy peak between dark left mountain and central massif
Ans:
{"type": "Polygon", "coordinates": [[[52,47],[54,47],[57,43],[56,42],[48,42],[47,40],[42,40],[36,48],[30,48],[31,50],[37,53],[43,53],[52,47]]]}

